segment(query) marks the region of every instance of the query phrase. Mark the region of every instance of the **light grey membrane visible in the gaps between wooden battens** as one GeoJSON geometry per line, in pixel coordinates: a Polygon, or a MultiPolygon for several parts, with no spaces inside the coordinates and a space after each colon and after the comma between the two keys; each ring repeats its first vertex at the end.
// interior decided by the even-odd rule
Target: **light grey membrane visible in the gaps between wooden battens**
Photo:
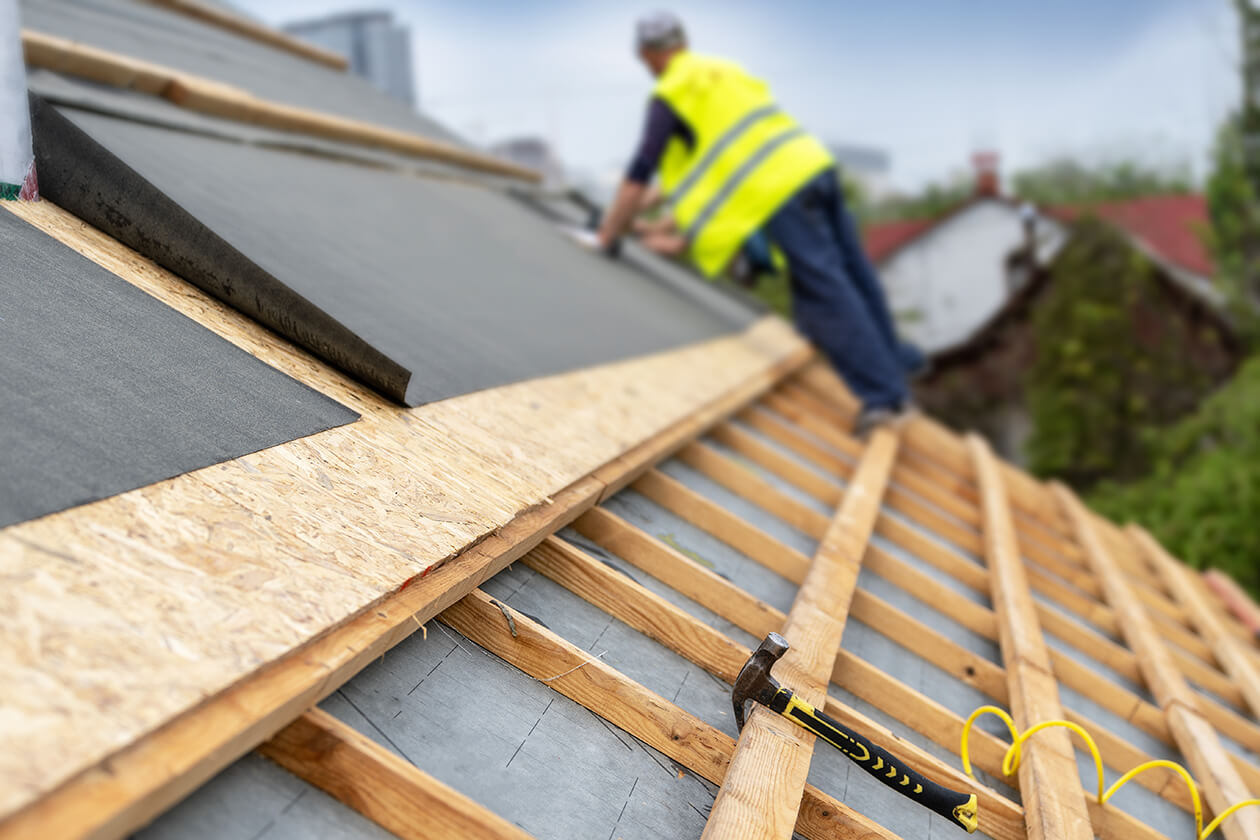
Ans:
{"type": "MultiPolygon", "coordinates": [[[[766,438],[761,440],[769,446],[776,446],[766,438]]],[[[790,456],[786,451],[780,451],[790,456]]],[[[719,489],[679,462],[668,462],[663,468],[722,506],[732,510],[738,508],[740,514],[759,528],[776,535],[791,531],[765,511],[736,505],[733,496],[718,492],[719,489]]],[[[766,474],[762,477],[774,480],[766,474]]],[[[712,565],[713,570],[767,603],[780,610],[791,606],[794,584],[634,490],[621,491],[606,502],[606,508],[649,534],[667,539],[684,552],[694,552],[706,565],[712,565]]],[[[886,513],[891,511],[886,509],[886,513]]],[[[575,531],[564,530],[561,536],[621,569],[644,587],[736,641],[748,646],[757,641],[575,531]]],[[[801,549],[813,548],[811,540],[804,534],[791,531],[791,539],[801,549]]],[[[912,554],[882,540],[879,544],[917,569],[939,574],[912,554]]],[[[997,645],[992,641],[974,636],[892,583],[863,572],[859,587],[980,656],[1000,664],[997,645]]],[[[515,611],[542,621],[572,644],[592,655],[600,655],[602,661],[687,712],[732,737],[737,734],[727,685],[525,565],[517,564],[504,570],[484,588],[515,611]]],[[[979,599],[985,601],[983,596],[979,599]]],[[[976,707],[992,701],[953,675],[852,618],[844,633],[844,649],[960,715],[965,717],[976,707]]],[[[1108,676],[1100,671],[1100,679],[1108,676]]],[[[834,685],[830,690],[834,696],[888,727],[901,738],[954,767],[960,767],[958,756],[951,751],[900,723],[897,709],[873,708],[834,685]]],[[[1131,727],[1125,729],[1120,725],[1123,722],[1116,722],[1114,715],[1106,715],[1095,704],[1070,690],[1063,691],[1063,701],[1100,724],[1115,727],[1114,732],[1118,734],[1134,735],[1131,727]]],[[[682,768],[677,763],[601,722],[546,684],[533,680],[436,623],[430,625],[427,641],[418,633],[413,635],[382,661],[364,669],[329,698],[323,708],[543,840],[698,837],[716,795],[712,785],[687,772],[679,777],[678,771],[682,768]],[[454,703],[454,698],[475,698],[475,703],[454,703]]],[[[1004,737],[1002,724],[992,718],[982,719],[978,725],[1004,737]]],[[[1131,739],[1157,756],[1171,752],[1162,744],[1149,743],[1149,738],[1131,739]]],[[[1089,788],[1092,785],[1092,761],[1084,753],[1077,753],[1077,758],[1082,782],[1089,788]]],[[[256,763],[258,759],[243,761],[256,763]]],[[[278,768],[272,771],[282,773],[278,768]]],[[[1002,781],[984,773],[979,776],[985,783],[1019,801],[1018,793],[1002,781]]],[[[1118,773],[1108,769],[1109,782],[1116,776],[1118,773]]],[[[907,840],[963,836],[955,826],[907,805],[906,800],[856,769],[825,744],[815,748],[810,782],[907,840]]],[[[277,783],[271,785],[276,786],[277,783]]],[[[241,802],[241,807],[261,807],[266,814],[276,811],[294,796],[285,790],[263,807],[255,802],[257,791],[246,791],[243,787],[242,785],[239,798],[231,798],[222,786],[214,788],[213,796],[217,797],[215,801],[231,802],[232,807],[241,802]]],[[[198,820],[204,819],[199,815],[205,811],[203,796],[204,792],[194,793],[142,836],[146,840],[210,836],[198,830],[198,820]]],[[[1137,785],[1118,795],[1115,805],[1168,836],[1179,836],[1193,827],[1189,815],[1137,785]]],[[[349,811],[344,816],[345,825],[359,820],[349,811]]],[[[253,835],[215,836],[229,839],[253,835]]],[[[294,835],[281,831],[260,836],[271,839],[294,835]]]]}

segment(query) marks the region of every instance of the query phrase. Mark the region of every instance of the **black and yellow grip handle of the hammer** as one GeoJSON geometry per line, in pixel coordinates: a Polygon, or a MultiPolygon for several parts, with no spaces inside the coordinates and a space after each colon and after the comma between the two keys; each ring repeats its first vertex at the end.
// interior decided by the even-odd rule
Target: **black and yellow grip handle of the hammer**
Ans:
{"type": "Polygon", "coordinates": [[[887,749],[827,717],[790,689],[780,688],[767,705],[839,749],[892,790],[966,829],[968,834],[975,831],[979,824],[975,793],[959,793],[924,778],[887,749]]]}

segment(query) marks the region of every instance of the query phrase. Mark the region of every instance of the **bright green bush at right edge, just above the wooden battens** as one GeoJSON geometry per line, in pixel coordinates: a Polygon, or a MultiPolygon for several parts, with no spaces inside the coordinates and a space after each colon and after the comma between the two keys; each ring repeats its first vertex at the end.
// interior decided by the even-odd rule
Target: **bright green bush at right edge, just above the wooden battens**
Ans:
{"type": "Polygon", "coordinates": [[[1144,480],[1099,485],[1090,502],[1140,523],[1174,555],[1260,592],[1260,358],[1192,416],[1148,432],[1144,480]]]}

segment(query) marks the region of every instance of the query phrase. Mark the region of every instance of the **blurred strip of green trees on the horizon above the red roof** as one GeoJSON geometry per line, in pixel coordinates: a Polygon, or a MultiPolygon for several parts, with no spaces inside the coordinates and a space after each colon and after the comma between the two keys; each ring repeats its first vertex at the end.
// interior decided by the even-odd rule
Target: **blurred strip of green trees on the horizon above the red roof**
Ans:
{"type": "Polygon", "coordinates": [[[1014,175],[1016,194],[1036,204],[1096,204],[1145,195],[1191,191],[1184,165],[1145,165],[1130,160],[1081,164],[1058,157],[1014,175]]]}

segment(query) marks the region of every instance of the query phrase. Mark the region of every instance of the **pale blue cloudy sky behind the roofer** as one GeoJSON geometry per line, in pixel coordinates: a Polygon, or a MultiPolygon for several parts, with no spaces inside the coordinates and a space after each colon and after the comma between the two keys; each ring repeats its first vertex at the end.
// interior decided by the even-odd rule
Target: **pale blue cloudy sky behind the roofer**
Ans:
{"type": "MultiPolygon", "coordinates": [[[[570,170],[624,169],[651,79],[633,24],[659,5],[365,0],[411,28],[420,107],[469,140],[534,135],[570,170]]],[[[267,23],[355,0],[236,0],[267,23]]],[[[679,0],[699,52],[766,78],[828,142],[892,159],[902,190],[1068,155],[1206,171],[1239,98],[1231,0],[679,0]]]]}

